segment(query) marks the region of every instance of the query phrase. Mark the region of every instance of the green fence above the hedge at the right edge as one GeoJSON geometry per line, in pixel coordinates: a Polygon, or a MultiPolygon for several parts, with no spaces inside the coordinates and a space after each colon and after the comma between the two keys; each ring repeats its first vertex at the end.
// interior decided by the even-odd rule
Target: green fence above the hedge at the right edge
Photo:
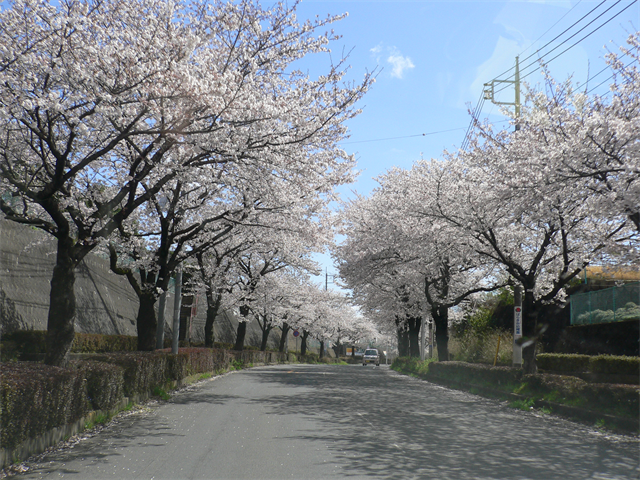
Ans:
{"type": "Polygon", "coordinates": [[[571,296],[571,325],[640,320],[640,282],[571,296]]]}

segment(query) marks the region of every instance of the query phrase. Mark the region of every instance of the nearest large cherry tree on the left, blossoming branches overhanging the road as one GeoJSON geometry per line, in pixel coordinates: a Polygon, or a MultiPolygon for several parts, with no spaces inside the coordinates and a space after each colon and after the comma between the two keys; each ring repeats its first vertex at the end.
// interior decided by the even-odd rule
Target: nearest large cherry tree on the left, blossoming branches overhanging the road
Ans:
{"type": "Polygon", "coordinates": [[[321,194],[348,181],[336,142],[372,78],[344,86],[341,62],[316,80],[291,69],[328,50],[335,37],[313,34],[338,19],[299,24],[294,11],[218,0],[2,11],[0,209],[58,241],[47,363],[63,364],[73,340],[76,265],[179,174],[213,161],[236,178],[247,164],[292,183],[324,175],[321,194]]]}

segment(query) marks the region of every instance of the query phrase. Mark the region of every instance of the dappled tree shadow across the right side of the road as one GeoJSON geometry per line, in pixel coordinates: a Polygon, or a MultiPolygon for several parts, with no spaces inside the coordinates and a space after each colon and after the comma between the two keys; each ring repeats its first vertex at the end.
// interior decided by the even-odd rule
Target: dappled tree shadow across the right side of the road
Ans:
{"type": "Polygon", "coordinates": [[[322,424],[292,439],[326,445],[343,475],[389,479],[640,478],[640,443],[612,441],[555,417],[449,390],[386,368],[295,367],[247,372],[301,388],[256,399],[276,415],[322,424]]]}

